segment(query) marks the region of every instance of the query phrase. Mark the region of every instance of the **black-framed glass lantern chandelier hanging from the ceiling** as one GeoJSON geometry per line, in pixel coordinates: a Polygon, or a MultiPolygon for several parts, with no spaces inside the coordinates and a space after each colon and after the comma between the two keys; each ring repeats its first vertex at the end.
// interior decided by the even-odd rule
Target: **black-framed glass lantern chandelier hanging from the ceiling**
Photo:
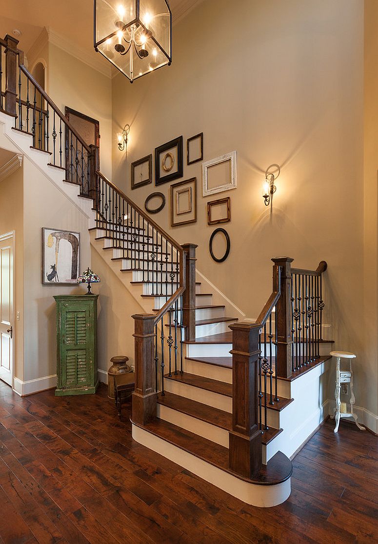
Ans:
{"type": "Polygon", "coordinates": [[[95,50],[133,82],[171,64],[166,0],[95,0],[95,50]]]}

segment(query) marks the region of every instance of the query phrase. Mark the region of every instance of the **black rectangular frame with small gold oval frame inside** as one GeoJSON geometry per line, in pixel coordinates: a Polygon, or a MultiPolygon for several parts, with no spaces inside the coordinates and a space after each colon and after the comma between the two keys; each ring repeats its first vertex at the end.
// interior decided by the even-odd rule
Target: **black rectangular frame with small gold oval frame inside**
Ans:
{"type": "Polygon", "coordinates": [[[177,180],[183,174],[183,137],[179,136],[155,149],[155,185],[177,180]]]}

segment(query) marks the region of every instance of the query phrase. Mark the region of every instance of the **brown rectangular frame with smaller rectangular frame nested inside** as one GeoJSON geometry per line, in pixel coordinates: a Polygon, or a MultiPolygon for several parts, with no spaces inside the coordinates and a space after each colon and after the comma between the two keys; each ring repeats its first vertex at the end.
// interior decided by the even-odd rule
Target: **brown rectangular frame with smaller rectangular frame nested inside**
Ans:
{"type": "Polygon", "coordinates": [[[197,178],[173,183],[171,190],[171,227],[197,221],[197,178]]]}

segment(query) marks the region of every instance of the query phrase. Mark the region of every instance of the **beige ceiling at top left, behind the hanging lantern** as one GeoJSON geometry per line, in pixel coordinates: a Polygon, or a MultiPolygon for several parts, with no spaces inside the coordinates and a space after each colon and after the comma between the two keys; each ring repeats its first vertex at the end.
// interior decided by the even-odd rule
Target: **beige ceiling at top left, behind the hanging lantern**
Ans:
{"type": "MultiPolygon", "coordinates": [[[[201,0],[170,0],[173,22],[184,17],[201,0]]],[[[21,31],[18,47],[28,52],[46,27],[72,46],[86,54],[96,55],[93,49],[92,0],[13,0],[2,2],[0,36],[21,31]]],[[[103,59],[106,63],[106,60],[103,59]]]]}

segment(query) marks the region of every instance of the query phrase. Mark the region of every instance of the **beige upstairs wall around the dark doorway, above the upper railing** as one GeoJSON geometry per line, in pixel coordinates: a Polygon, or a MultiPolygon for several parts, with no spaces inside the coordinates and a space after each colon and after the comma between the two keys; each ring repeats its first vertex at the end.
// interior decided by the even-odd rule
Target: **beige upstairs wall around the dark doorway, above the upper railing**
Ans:
{"type": "Polygon", "coordinates": [[[48,44],[47,89],[64,113],[65,106],[100,121],[100,162],[111,176],[111,79],[48,44]]]}

